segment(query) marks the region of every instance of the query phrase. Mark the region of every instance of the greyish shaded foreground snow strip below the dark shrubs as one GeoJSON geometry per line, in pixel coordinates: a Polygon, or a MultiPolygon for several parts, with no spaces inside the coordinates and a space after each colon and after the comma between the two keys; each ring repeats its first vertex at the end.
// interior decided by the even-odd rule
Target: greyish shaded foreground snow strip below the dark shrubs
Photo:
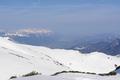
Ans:
{"type": "Polygon", "coordinates": [[[32,77],[20,77],[13,80],[120,80],[120,75],[98,76],[88,74],[62,74],[59,76],[37,75],[32,77]]]}

